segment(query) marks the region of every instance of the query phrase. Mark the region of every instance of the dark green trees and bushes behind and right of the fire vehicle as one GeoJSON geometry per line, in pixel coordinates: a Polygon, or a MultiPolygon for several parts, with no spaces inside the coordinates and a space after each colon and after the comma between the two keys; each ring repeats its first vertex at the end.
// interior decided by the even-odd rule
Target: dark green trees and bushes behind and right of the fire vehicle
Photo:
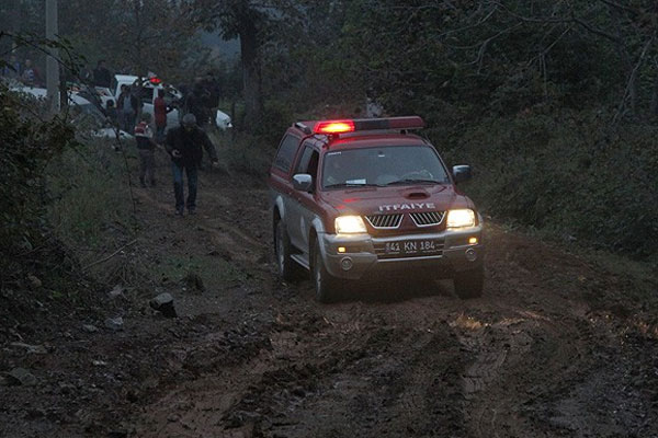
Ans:
{"type": "Polygon", "coordinates": [[[356,0],[307,19],[263,55],[279,107],[419,114],[450,164],[475,168],[485,212],[656,261],[655,2],[356,0]]]}

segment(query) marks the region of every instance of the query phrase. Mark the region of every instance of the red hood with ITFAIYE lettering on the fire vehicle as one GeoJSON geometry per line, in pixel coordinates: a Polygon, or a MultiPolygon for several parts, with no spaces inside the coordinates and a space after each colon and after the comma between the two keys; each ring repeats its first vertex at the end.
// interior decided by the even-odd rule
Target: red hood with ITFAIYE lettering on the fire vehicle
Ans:
{"type": "Polygon", "coordinates": [[[322,193],[324,200],[339,215],[445,211],[470,207],[468,198],[452,185],[354,187],[322,193]]]}

